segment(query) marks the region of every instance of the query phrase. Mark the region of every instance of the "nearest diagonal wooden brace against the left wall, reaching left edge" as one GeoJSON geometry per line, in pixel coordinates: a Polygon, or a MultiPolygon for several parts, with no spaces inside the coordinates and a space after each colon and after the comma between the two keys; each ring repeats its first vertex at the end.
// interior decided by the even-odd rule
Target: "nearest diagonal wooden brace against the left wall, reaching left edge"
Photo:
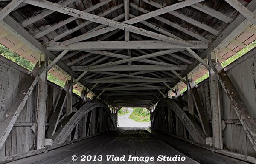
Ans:
{"type": "Polygon", "coordinates": [[[7,110],[7,117],[0,120],[0,148],[2,148],[5,143],[13,125],[21,113],[21,110],[26,105],[29,96],[37,85],[38,79],[41,77],[41,74],[44,73],[45,68],[45,65],[42,65],[42,67],[39,67],[38,63],[35,65],[35,68],[31,72],[31,76],[26,79],[26,85],[22,85],[16,98],[11,103],[9,110],[7,110]]]}

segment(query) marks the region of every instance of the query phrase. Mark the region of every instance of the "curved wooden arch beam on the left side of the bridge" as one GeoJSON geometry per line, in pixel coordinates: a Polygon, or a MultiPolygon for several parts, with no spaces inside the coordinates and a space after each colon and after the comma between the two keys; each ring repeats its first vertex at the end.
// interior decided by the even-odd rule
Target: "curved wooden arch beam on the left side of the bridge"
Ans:
{"type": "Polygon", "coordinates": [[[113,121],[112,113],[110,112],[108,105],[99,99],[93,99],[87,103],[85,103],[83,106],[80,107],[80,109],[70,118],[70,120],[65,124],[65,126],[59,131],[56,132],[52,136],[52,143],[58,144],[65,142],[72,132],[72,130],[76,127],[76,125],[79,123],[79,121],[85,116],[86,113],[89,113],[91,110],[96,109],[97,107],[101,107],[105,109],[111,118],[111,122],[113,124],[113,127],[116,128],[116,124],[113,121]]]}

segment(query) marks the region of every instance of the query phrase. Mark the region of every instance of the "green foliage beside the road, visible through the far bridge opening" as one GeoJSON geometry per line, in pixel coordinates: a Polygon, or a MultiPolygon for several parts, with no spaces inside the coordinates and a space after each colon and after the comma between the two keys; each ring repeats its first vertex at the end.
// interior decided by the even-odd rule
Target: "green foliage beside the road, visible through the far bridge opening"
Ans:
{"type": "Polygon", "coordinates": [[[133,112],[129,116],[130,119],[133,119],[137,122],[150,122],[150,112],[142,107],[133,108],[133,112]]]}

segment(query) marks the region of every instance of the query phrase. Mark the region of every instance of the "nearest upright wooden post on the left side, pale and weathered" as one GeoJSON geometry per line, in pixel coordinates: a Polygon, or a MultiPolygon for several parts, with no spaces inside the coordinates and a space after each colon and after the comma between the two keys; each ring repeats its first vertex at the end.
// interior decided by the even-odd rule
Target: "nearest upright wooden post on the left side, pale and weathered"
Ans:
{"type": "MultiPolygon", "coordinates": [[[[39,55],[39,65],[48,64],[47,57],[43,54],[39,55]]],[[[44,147],[45,139],[45,115],[47,108],[47,70],[41,74],[37,87],[37,110],[36,110],[36,134],[35,149],[44,147]]]]}

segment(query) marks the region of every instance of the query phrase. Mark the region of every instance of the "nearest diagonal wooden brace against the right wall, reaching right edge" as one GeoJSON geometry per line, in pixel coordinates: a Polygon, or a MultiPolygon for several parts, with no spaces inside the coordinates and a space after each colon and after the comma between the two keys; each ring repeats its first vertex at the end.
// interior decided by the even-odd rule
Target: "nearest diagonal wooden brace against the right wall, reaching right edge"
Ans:
{"type": "Polygon", "coordinates": [[[250,112],[241,99],[239,92],[236,90],[236,87],[233,85],[233,82],[228,77],[227,72],[224,71],[221,64],[219,62],[215,64],[211,63],[211,66],[218,77],[222,88],[227,93],[231,105],[233,106],[236,115],[238,116],[248,138],[253,145],[253,149],[256,150],[256,123],[253,120],[253,117],[250,115],[250,112]]]}

